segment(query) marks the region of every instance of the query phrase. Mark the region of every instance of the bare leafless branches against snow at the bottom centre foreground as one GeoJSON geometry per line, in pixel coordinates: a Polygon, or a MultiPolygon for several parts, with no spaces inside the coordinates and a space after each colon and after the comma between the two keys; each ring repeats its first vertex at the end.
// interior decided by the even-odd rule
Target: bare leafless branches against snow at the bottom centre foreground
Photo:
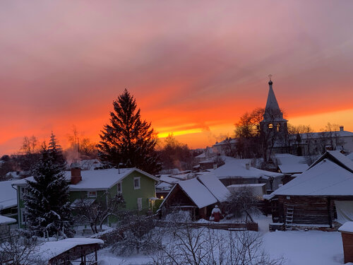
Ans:
{"type": "Polygon", "coordinates": [[[191,224],[172,228],[167,241],[155,242],[160,247],[151,255],[151,264],[280,265],[284,260],[271,259],[256,232],[195,229],[191,224]]]}

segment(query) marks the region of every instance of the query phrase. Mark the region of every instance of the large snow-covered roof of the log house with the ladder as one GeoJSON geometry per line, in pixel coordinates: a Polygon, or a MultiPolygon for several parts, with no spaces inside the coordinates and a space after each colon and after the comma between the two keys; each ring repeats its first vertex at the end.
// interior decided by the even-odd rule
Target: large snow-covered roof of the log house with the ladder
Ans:
{"type": "Polygon", "coordinates": [[[270,194],[293,196],[353,196],[353,173],[324,159],[270,194]]]}

